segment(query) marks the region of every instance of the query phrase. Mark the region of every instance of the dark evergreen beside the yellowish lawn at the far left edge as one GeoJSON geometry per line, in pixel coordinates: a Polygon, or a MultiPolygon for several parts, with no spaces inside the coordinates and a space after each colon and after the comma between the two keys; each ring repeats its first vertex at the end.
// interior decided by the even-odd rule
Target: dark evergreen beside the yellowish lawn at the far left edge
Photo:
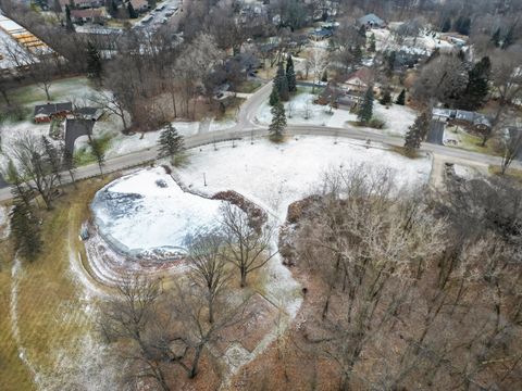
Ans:
{"type": "Polygon", "coordinates": [[[30,205],[15,201],[10,213],[11,235],[16,251],[24,258],[34,261],[41,249],[40,225],[30,205]]]}

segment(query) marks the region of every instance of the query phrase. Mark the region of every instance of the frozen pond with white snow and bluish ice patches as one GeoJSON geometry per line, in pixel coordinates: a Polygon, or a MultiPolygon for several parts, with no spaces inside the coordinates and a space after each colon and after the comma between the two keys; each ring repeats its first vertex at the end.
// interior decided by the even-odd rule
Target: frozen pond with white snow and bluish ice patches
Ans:
{"type": "Polygon", "coordinates": [[[183,252],[187,235],[216,224],[221,201],[183,191],[162,167],[124,176],[91,207],[100,232],[132,255],[183,252]]]}

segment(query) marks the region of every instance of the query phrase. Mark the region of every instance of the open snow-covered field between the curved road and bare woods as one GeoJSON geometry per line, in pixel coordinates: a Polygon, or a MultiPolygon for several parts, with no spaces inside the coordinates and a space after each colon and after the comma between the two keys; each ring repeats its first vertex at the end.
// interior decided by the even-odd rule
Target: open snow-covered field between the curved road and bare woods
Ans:
{"type": "Polygon", "coordinates": [[[236,142],[236,148],[221,143],[217,151],[204,147],[178,174],[186,186],[208,194],[235,190],[283,220],[288,205],[313,192],[325,172],[360,163],[396,171],[399,186],[425,182],[431,172],[428,159],[410,160],[382,144],[300,137],[282,144],[256,139],[253,144],[236,142]]]}

